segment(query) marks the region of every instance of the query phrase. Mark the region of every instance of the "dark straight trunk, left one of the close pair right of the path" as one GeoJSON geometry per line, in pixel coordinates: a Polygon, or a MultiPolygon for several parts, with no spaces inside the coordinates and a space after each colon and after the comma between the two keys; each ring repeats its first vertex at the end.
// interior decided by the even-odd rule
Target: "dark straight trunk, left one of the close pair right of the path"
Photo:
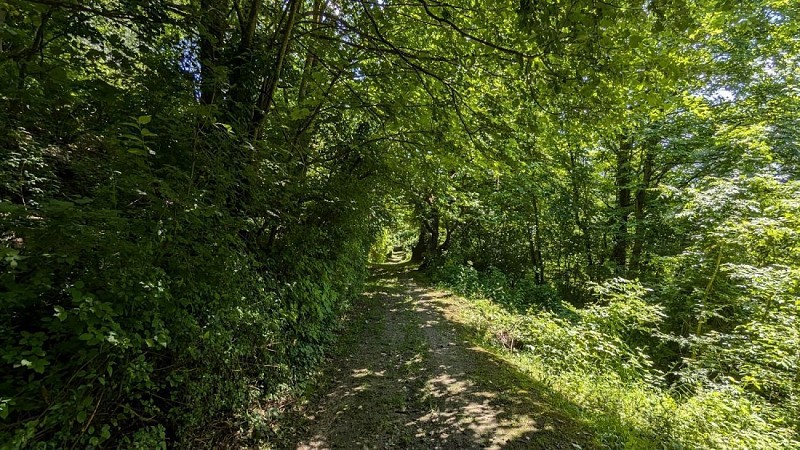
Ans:
{"type": "Polygon", "coordinates": [[[631,141],[624,138],[616,152],[616,224],[611,259],[618,275],[624,275],[628,257],[628,218],[631,214],[631,141]]]}

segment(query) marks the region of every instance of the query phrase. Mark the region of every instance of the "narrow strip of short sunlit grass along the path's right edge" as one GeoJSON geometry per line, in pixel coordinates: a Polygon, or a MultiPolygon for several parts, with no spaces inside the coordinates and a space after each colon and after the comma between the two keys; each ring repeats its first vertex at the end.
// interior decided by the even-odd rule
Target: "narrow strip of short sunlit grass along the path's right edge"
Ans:
{"type": "MultiPolygon", "coordinates": [[[[548,403],[592,430],[597,445],[626,449],[742,449],[800,448],[794,430],[781,426],[781,417],[734,392],[698,390],[679,397],[644,380],[623,380],[602,367],[554,368],[536,349],[514,349],[497,339],[509,326],[525,323],[527,333],[547,333],[562,348],[582,348],[581,335],[564,329],[567,322],[510,312],[486,299],[458,299],[457,319],[496,357],[525,374],[532,383],[554,395],[548,403]],[[560,332],[554,334],[553,330],[560,332]]],[[[574,358],[569,355],[568,358],[574,358]]],[[[491,377],[487,373],[485,376],[491,377]]],[[[497,380],[496,380],[497,381],[497,380]]],[[[517,380],[517,383],[520,381],[517,380]]]]}

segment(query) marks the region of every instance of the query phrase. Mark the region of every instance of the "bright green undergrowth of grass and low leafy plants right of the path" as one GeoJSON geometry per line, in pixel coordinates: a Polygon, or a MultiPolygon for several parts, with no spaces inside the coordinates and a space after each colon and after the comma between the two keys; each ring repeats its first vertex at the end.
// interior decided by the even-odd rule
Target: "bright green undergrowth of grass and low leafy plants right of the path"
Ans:
{"type": "Polygon", "coordinates": [[[462,319],[498,356],[561,396],[558,405],[595,432],[604,448],[798,448],[786,411],[735,385],[669,383],[649,357],[661,310],[638,283],[593,287],[598,301],[576,308],[546,287],[524,291],[497,274],[449,266],[437,279],[468,297],[462,319]]]}

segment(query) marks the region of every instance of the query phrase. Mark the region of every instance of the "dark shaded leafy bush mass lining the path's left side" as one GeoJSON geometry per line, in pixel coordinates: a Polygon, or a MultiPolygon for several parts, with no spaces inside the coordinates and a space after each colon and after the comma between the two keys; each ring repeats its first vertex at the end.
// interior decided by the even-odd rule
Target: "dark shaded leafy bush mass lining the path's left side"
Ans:
{"type": "MultiPolygon", "coordinates": [[[[306,177],[310,199],[283,192],[282,205],[263,186],[276,175],[229,166],[224,155],[241,149],[224,130],[207,132],[218,145],[209,159],[173,165],[192,161],[172,142],[192,142],[181,122],[192,123],[148,137],[155,155],[98,138],[38,152],[35,177],[0,168],[5,447],[246,437],[272,420],[252,411],[302,386],[335,338],[377,231],[368,182],[306,177]],[[187,189],[193,170],[202,188],[187,189]],[[264,213],[262,195],[285,217],[264,213]]],[[[6,148],[44,147],[32,133],[10,136],[6,148]]]]}

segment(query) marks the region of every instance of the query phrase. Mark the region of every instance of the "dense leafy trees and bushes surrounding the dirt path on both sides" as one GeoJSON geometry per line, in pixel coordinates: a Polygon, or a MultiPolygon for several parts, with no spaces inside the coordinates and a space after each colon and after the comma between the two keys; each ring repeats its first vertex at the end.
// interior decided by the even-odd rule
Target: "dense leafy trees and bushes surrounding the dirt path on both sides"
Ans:
{"type": "Polygon", "coordinates": [[[798,15],[0,0],[0,442],[270,438],[403,245],[554,371],[744,424],[677,444],[796,444],[798,15]]]}

